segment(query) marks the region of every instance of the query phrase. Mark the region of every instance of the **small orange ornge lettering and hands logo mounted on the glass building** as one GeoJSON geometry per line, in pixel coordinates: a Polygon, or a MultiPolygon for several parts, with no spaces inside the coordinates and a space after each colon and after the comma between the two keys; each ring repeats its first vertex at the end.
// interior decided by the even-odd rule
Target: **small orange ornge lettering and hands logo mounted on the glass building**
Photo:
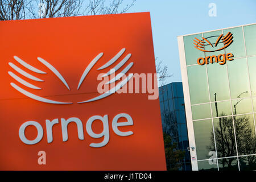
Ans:
{"type": "MultiPolygon", "coordinates": [[[[233,34],[231,32],[228,32],[225,36],[221,34],[220,36],[209,36],[208,38],[202,37],[201,40],[195,38],[193,40],[193,44],[195,44],[195,48],[199,49],[203,52],[215,52],[215,51],[221,51],[222,49],[225,49],[226,47],[230,46],[230,44],[233,43],[233,34]],[[208,39],[212,39],[217,37],[216,41],[214,43],[211,43],[208,39]],[[222,41],[222,42],[221,42],[222,41]],[[217,48],[218,44],[221,43],[223,46],[220,48],[217,48]]],[[[232,53],[227,54],[220,54],[218,56],[205,56],[199,57],[197,59],[197,64],[204,65],[209,63],[219,63],[220,65],[225,64],[226,60],[232,61],[234,55],[232,53]]]]}

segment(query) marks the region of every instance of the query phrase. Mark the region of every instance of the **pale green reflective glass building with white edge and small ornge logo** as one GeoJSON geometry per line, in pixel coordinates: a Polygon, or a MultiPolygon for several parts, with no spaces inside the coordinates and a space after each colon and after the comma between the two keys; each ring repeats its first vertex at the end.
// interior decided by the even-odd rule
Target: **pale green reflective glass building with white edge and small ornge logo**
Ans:
{"type": "Polygon", "coordinates": [[[256,170],[256,23],[179,36],[178,43],[192,169],[256,170]],[[216,61],[228,53],[233,60],[216,61]],[[207,56],[216,59],[197,63],[207,56]]]}

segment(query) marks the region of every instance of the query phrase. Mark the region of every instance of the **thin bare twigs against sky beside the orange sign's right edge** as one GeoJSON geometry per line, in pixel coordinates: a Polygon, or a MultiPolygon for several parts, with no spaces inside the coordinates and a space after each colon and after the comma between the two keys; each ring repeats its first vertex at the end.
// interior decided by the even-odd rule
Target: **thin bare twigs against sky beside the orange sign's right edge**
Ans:
{"type": "Polygon", "coordinates": [[[159,60],[158,57],[155,58],[156,73],[158,73],[158,82],[159,86],[163,86],[166,82],[166,78],[173,75],[168,75],[168,67],[163,64],[162,60],[159,60]]]}

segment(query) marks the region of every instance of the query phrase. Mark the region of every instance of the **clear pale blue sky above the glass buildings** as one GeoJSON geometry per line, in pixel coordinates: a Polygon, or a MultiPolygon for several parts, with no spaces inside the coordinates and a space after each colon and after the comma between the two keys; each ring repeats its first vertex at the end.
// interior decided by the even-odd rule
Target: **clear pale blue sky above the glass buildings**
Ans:
{"type": "Polygon", "coordinates": [[[182,81],[177,36],[256,23],[256,0],[137,0],[127,13],[146,11],[151,15],[155,57],[173,75],[166,84],[182,81]],[[209,16],[210,3],[216,4],[216,16],[209,16]]]}

